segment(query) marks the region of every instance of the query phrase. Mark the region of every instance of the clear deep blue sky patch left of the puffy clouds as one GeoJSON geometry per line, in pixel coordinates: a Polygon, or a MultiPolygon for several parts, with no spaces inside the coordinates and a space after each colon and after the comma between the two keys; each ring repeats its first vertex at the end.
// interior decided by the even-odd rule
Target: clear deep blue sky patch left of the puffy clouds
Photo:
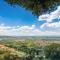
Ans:
{"type": "Polygon", "coordinates": [[[36,22],[36,17],[30,11],[19,6],[12,7],[3,0],[0,0],[0,16],[6,19],[0,21],[0,23],[4,22],[10,25],[31,25],[36,22]]]}

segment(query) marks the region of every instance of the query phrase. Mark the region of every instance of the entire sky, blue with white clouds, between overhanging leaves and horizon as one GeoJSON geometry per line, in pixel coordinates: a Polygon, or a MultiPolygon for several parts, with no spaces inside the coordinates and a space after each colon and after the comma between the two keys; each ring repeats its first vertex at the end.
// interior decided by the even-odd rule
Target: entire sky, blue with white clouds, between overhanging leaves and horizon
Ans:
{"type": "Polygon", "coordinates": [[[20,6],[0,0],[1,36],[60,36],[60,6],[38,18],[20,6]]]}

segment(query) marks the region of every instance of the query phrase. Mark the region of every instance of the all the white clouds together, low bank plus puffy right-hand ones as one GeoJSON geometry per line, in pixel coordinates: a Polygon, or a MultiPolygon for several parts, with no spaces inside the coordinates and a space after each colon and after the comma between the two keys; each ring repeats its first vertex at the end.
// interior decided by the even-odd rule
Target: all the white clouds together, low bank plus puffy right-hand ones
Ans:
{"type": "MultiPolygon", "coordinates": [[[[0,17],[1,20],[4,18],[0,17]]],[[[53,22],[54,19],[60,19],[60,6],[50,14],[40,15],[38,21],[46,21],[40,28],[36,25],[25,26],[6,26],[0,24],[0,35],[5,36],[48,36],[60,35],[60,21],[53,22]]]]}

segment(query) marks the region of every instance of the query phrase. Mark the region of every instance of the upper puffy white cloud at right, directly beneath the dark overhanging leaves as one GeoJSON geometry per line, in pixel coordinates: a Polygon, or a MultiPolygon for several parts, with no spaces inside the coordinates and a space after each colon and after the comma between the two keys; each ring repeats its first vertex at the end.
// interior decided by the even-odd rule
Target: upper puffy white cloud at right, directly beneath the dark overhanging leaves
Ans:
{"type": "Polygon", "coordinates": [[[60,6],[58,6],[57,10],[51,12],[50,14],[40,15],[38,21],[45,20],[46,22],[52,22],[52,20],[56,18],[60,18],[60,6]]]}

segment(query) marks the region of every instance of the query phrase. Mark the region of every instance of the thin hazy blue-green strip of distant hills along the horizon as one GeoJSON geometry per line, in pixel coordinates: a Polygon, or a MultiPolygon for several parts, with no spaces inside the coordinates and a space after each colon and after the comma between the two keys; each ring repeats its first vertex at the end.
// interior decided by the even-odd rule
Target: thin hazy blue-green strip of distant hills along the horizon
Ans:
{"type": "Polygon", "coordinates": [[[17,40],[60,40],[60,36],[0,36],[1,39],[17,40]]]}

